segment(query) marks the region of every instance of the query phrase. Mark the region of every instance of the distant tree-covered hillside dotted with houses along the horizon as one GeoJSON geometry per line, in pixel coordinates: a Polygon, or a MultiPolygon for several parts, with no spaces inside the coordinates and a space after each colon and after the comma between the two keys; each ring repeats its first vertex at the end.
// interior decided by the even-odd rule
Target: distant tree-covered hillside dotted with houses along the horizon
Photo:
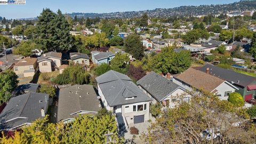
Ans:
{"type": "Polygon", "coordinates": [[[255,10],[256,1],[239,1],[231,4],[217,4],[217,5],[199,5],[199,6],[179,6],[171,9],[155,9],[146,11],[132,11],[132,12],[113,12],[113,13],[71,13],[71,17],[77,15],[78,18],[132,18],[140,17],[143,13],[147,13],[150,17],[171,17],[189,16],[189,15],[206,15],[206,14],[220,14],[231,11],[245,11],[255,10]]]}

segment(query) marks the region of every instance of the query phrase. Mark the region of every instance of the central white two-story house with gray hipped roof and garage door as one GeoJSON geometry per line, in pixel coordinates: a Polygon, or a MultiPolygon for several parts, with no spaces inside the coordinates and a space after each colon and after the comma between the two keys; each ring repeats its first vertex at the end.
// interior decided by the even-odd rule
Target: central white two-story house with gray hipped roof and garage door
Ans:
{"type": "Polygon", "coordinates": [[[117,122],[127,127],[149,120],[151,99],[128,76],[110,70],[96,78],[101,101],[116,114],[117,122]]]}

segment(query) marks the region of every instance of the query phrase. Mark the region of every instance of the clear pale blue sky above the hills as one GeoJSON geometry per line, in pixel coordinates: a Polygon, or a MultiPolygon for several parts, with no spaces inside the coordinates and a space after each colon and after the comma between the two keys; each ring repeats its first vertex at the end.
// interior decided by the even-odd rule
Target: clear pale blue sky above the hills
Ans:
{"type": "Polygon", "coordinates": [[[182,5],[224,4],[235,0],[26,0],[26,5],[0,5],[0,16],[7,19],[37,17],[43,8],[62,13],[72,12],[123,12],[172,8],[182,5]]]}

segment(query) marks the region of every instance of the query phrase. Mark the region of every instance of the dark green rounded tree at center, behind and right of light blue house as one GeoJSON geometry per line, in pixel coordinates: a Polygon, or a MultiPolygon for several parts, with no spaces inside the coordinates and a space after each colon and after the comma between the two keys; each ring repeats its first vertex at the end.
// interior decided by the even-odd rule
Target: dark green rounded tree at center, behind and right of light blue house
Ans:
{"type": "Polygon", "coordinates": [[[141,60],[144,55],[144,47],[141,43],[140,36],[132,34],[125,38],[125,52],[132,54],[135,59],[141,60]]]}

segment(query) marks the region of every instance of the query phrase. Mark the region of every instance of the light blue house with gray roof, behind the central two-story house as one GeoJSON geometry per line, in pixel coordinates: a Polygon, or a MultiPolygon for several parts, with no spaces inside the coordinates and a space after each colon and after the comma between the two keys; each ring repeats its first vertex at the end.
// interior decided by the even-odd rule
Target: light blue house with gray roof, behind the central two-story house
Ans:
{"type": "Polygon", "coordinates": [[[91,54],[92,62],[96,64],[108,63],[110,65],[111,60],[115,58],[115,53],[113,52],[92,51],[91,54]]]}

